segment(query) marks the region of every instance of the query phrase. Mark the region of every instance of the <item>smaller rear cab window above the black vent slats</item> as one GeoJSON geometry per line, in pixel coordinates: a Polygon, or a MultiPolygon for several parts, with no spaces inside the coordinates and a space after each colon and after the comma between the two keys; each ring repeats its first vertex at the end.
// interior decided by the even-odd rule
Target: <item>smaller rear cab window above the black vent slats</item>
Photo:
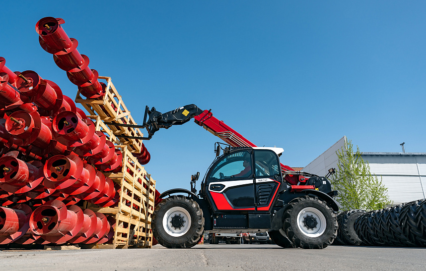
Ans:
{"type": "Polygon", "coordinates": [[[270,150],[256,150],[255,157],[255,176],[274,176],[280,174],[280,163],[277,155],[270,150]]]}

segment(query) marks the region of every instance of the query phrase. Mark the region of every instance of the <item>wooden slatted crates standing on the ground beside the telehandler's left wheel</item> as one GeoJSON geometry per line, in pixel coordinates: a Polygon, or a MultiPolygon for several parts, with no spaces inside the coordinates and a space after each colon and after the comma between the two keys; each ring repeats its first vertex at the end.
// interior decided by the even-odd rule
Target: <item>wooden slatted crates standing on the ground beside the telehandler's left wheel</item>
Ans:
{"type": "MultiPolygon", "coordinates": [[[[105,176],[120,184],[118,207],[100,208],[85,202],[84,207],[94,212],[115,216],[116,227],[111,248],[150,248],[152,246],[151,217],[154,211],[155,180],[126,148],[123,154],[122,171],[103,172],[105,176]]],[[[91,245],[96,247],[99,245],[91,245]]],[[[105,248],[105,246],[100,246],[105,248]]]]}

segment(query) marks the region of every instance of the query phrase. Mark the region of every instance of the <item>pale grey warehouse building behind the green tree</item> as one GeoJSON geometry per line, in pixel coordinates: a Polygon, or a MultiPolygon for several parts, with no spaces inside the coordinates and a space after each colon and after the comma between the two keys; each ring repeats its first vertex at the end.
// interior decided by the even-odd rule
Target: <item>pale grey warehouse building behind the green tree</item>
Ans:
{"type": "MultiPolygon", "coordinates": [[[[302,171],[324,176],[329,168],[338,169],[336,152],[347,143],[346,136],[305,166],[302,171]]],[[[394,204],[426,198],[426,153],[362,153],[371,174],[382,176],[394,204]]]]}

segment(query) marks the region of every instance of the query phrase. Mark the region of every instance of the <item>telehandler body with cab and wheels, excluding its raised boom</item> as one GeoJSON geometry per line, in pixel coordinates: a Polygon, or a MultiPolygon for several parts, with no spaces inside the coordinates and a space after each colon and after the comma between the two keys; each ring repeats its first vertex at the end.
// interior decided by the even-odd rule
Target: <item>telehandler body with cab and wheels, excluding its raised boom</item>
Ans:
{"type": "Polygon", "coordinates": [[[299,172],[309,176],[304,185],[288,184],[279,161],[283,151],[215,143],[216,159],[198,195],[199,172],[192,175],[191,191],[171,189],[160,195],[163,200],[152,216],[154,237],[167,248],[190,248],[204,230],[268,231],[284,248],[327,247],[337,236],[338,206],[332,198],[337,193],[327,178],[307,172],[299,172]]]}

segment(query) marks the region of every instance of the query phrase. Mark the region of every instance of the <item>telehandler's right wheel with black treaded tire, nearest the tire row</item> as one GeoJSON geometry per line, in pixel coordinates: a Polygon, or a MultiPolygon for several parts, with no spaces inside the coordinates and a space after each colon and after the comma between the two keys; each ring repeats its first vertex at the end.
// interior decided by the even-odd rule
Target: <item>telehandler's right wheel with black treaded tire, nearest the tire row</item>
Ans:
{"type": "MultiPolygon", "coordinates": [[[[328,245],[333,243],[336,238],[337,229],[338,223],[333,210],[327,206],[326,202],[318,199],[317,197],[304,196],[297,198],[288,205],[284,212],[284,231],[287,234],[288,239],[295,244],[296,247],[304,249],[326,248],[328,245]],[[309,212],[304,210],[309,210],[309,212]],[[306,223],[309,223],[309,225],[304,226],[306,228],[306,232],[300,230],[299,220],[297,219],[299,214],[302,215],[302,212],[307,212],[306,214],[311,214],[313,217],[309,220],[303,219],[303,223],[305,223],[305,225],[306,223]],[[315,216],[317,216],[318,219],[315,216]],[[315,221],[312,222],[313,220],[315,221]],[[318,220],[320,221],[318,222],[318,220]],[[320,235],[310,236],[310,233],[307,233],[310,229],[309,226],[314,227],[318,225],[319,229],[317,229],[317,232],[320,235]]],[[[312,228],[312,231],[315,231],[315,228],[312,228]]]]}

